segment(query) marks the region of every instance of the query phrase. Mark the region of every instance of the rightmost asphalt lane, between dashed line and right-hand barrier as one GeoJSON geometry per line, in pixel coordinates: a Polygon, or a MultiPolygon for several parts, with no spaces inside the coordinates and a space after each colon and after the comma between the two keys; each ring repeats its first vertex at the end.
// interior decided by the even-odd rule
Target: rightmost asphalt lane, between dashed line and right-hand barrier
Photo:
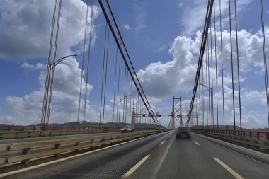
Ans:
{"type": "Polygon", "coordinates": [[[202,145],[202,151],[207,152],[213,157],[219,158],[230,168],[232,168],[236,173],[239,173],[243,178],[269,178],[269,166],[266,163],[257,161],[252,158],[253,154],[259,155],[259,158],[263,158],[263,161],[267,161],[269,156],[267,154],[261,154],[250,149],[244,149],[248,151],[250,156],[246,156],[239,153],[241,146],[235,146],[236,151],[228,148],[231,144],[227,142],[222,142],[216,139],[208,139],[200,134],[193,134],[193,138],[200,142],[202,145]],[[222,145],[220,145],[222,144],[222,145]]]}

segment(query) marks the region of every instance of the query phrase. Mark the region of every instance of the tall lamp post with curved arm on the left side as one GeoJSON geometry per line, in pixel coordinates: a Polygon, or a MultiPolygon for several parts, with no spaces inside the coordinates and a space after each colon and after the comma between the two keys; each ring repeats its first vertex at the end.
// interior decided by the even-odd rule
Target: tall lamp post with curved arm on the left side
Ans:
{"type": "Polygon", "coordinates": [[[66,59],[67,57],[75,57],[75,56],[77,55],[70,54],[70,55],[67,55],[65,57],[58,59],[57,61],[53,63],[49,62],[47,64],[47,76],[46,76],[46,81],[45,81],[45,92],[44,92],[42,116],[41,116],[42,130],[45,130],[46,123],[49,122],[49,117],[50,117],[50,102],[52,98],[54,68],[56,67],[57,64],[62,62],[63,59],[66,59]]]}

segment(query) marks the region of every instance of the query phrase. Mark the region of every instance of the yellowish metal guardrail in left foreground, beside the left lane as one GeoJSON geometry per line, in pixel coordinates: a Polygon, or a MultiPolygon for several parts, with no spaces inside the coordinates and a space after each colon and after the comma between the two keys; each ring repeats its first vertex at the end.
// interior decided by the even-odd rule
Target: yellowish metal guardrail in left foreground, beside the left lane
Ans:
{"type": "Polygon", "coordinates": [[[162,130],[140,131],[122,134],[110,134],[89,137],[72,137],[68,139],[43,140],[37,142],[20,142],[0,144],[0,166],[9,163],[28,164],[35,158],[59,156],[59,154],[88,149],[93,146],[113,144],[129,139],[164,132],[162,130]]]}

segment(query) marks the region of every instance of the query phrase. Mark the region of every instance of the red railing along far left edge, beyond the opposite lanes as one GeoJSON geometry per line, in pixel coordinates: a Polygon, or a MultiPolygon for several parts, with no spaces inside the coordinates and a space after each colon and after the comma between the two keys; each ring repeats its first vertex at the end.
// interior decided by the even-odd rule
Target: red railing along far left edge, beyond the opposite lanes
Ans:
{"type": "MultiPolygon", "coordinates": [[[[59,130],[95,130],[102,132],[119,131],[121,127],[83,127],[83,126],[24,126],[24,125],[0,125],[0,132],[8,131],[59,131],[59,130]]],[[[151,128],[136,128],[137,130],[147,130],[151,128]]]]}

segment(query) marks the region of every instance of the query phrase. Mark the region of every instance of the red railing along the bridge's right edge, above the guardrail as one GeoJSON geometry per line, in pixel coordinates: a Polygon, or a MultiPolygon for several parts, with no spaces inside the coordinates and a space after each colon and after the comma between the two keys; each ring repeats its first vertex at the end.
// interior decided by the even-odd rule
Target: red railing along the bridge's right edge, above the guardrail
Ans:
{"type": "Polygon", "coordinates": [[[227,134],[255,139],[269,140],[269,131],[255,131],[255,130],[216,130],[216,129],[192,129],[198,132],[208,132],[213,134],[227,134]]]}

